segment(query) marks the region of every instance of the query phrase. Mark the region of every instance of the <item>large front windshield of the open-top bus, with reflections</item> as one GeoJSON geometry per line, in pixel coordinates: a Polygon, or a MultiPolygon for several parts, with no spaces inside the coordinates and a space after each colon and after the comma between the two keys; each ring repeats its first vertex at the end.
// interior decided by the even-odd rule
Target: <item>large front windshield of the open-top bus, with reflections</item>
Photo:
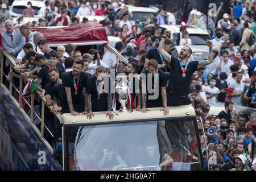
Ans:
{"type": "Polygon", "coordinates": [[[69,170],[200,170],[191,118],[65,126],[69,170]]]}

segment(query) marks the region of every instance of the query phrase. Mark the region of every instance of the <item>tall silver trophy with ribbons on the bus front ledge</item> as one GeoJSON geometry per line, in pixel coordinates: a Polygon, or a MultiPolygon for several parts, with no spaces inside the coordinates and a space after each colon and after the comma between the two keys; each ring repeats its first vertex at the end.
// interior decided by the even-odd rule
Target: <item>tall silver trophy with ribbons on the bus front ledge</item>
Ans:
{"type": "Polygon", "coordinates": [[[128,100],[128,81],[127,76],[117,76],[115,81],[115,92],[117,93],[117,100],[120,102],[121,107],[119,112],[127,112],[126,101],[128,100]]]}

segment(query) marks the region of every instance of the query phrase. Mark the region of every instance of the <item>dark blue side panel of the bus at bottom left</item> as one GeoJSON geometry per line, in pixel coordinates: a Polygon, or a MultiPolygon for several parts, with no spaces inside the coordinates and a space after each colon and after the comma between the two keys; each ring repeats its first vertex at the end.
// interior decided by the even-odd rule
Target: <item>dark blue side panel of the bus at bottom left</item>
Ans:
{"type": "Polygon", "coordinates": [[[62,170],[2,86],[0,86],[0,167],[3,170],[62,170]]]}

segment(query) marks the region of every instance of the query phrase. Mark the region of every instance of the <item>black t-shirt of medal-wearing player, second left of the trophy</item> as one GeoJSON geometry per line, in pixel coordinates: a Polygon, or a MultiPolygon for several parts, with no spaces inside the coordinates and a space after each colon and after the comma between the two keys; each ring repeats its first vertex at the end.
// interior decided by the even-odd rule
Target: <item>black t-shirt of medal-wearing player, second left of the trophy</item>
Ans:
{"type": "MultiPolygon", "coordinates": [[[[79,78],[79,87],[77,89],[77,94],[75,94],[75,87],[73,82],[73,75],[72,72],[67,72],[63,76],[63,86],[67,88],[71,88],[71,97],[72,97],[72,104],[74,110],[81,113],[84,111],[85,102],[84,102],[84,93],[82,93],[82,89],[86,88],[86,82],[88,80],[88,75],[85,72],[81,72],[79,78]]],[[[77,80],[75,80],[77,82],[77,80]]],[[[67,95],[63,92],[63,113],[70,113],[68,102],[67,102],[67,95]]]]}

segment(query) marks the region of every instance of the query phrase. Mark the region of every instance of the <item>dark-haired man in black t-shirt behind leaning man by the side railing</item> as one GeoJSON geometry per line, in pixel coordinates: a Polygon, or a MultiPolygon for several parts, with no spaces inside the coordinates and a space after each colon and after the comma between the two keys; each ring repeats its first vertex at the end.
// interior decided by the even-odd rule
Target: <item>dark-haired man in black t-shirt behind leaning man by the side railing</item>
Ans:
{"type": "MultiPolygon", "coordinates": [[[[59,71],[59,75],[61,75],[65,71],[63,65],[59,62],[58,55],[56,53],[51,53],[51,55],[49,57],[49,64],[46,65],[45,67],[41,68],[38,73],[38,80],[36,82],[36,86],[37,86],[36,88],[39,91],[41,91],[39,89],[39,87],[44,90],[44,89],[46,89],[46,85],[49,82],[51,82],[51,80],[48,77],[48,71],[49,71],[49,69],[52,69],[52,68],[57,68],[59,71]]],[[[41,92],[44,92],[44,91],[41,91],[41,92]]]]}

